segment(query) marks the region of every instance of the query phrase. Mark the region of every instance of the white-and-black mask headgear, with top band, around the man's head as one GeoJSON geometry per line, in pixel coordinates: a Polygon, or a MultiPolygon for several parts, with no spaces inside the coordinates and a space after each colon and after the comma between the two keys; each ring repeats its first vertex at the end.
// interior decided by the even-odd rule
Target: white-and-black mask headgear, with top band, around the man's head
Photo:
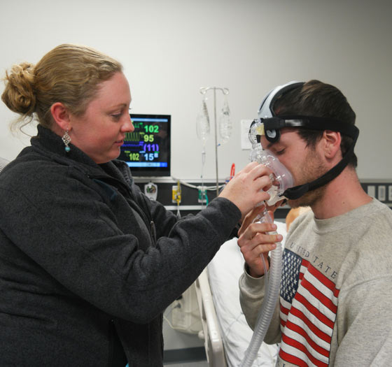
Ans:
{"type": "MultiPolygon", "coordinates": [[[[280,129],[283,129],[283,127],[298,127],[302,129],[339,131],[341,134],[353,138],[353,144],[351,145],[349,150],[347,150],[342,160],[339,161],[336,166],[332,167],[330,171],[324,173],[316,180],[295,187],[292,187],[293,183],[291,183],[290,186],[290,183],[288,181],[287,184],[281,183],[279,186],[280,189],[277,190],[277,195],[280,196],[278,200],[284,198],[291,200],[298,199],[307,192],[317,189],[318,187],[327,184],[335,177],[337,177],[337,175],[339,175],[343,171],[347,164],[349,164],[349,159],[354,152],[354,146],[359,135],[359,130],[356,126],[351,124],[345,124],[344,122],[340,122],[339,120],[335,120],[330,117],[315,117],[303,115],[276,116],[274,114],[274,110],[272,109],[276,99],[282,94],[297,87],[301,87],[302,85],[304,85],[304,82],[288,82],[285,85],[279,85],[275,89],[272,89],[272,91],[264,97],[258,110],[258,119],[253,120],[251,127],[249,128],[249,140],[252,143],[251,161],[260,160],[260,163],[262,163],[261,157],[262,154],[265,153],[261,153],[263,152],[263,150],[260,145],[260,136],[265,136],[269,143],[276,143],[281,137],[280,129]],[[281,192],[282,189],[283,192],[281,192]]],[[[268,152],[268,154],[273,156],[273,154],[270,152],[268,152]]],[[[275,159],[279,161],[276,157],[275,159]]],[[[274,168],[272,168],[272,171],[274,171],[274,168]]],[[[290,175],[290,173],[286,173],[286,175],[290,175]]]]}

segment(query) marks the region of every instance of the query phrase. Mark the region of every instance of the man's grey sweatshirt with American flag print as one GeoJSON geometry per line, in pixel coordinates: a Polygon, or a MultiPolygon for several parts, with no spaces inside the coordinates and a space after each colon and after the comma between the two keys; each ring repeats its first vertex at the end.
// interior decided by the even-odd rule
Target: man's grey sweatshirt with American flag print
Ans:
{"type": "MultiPolygon", "coordinates": [[[[293,222],[279,305],[266,343],[277,366],[391,366],[392,211],[373,199],[349,213],[293,222]]],[[[264,278],[244,273],[241,307],[253,328],[264,278]]]]}

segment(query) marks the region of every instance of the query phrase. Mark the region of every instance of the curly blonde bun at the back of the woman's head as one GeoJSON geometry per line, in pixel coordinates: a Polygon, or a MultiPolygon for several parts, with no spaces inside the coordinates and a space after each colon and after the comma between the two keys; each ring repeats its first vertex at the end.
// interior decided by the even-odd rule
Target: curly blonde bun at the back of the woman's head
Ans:
{"type": "Polygon", "coordinates": [[[24,62],[6,72],[6,89],[1,99],[13,112],[32,115],[36,105],[34,94],[34,65],[24,62]]]}

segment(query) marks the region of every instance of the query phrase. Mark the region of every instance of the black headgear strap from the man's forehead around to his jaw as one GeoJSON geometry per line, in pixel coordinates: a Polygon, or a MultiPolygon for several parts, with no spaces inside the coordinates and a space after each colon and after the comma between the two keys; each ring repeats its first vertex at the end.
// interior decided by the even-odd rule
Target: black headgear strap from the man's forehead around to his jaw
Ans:
{"type": "Polygon", "coordinates": [[[349,150],[347,150],[342,160],[339,161],[336,166],[332,167],[328,172],[324,173],[321,177],[317,178],[314,181],[305,183],[304,185],[298,185],[295,187],[291,187],[290,189],[286,189],[286,191],[283,192],[282,196],[285,196],[287,199],[290,200],[298,199],[307,192],[318,189],[318,187],[321,187],[326,183],[332,181],[340,173],[342,173],[347,164],[349,164],[349,160],[353,155],[354,146],[356,145],[356,141],[359,135],[359,130],[356,126],[352,124],[345,124],[338,120],[330,119],[329,117],[298,115],[276,116],[262,119],[262,123],[264,124],[265,137],[268,141],[273,140],[272,143],[279,141],[279,130],[283,127],[303,127],[305,129],[339,131],[341,134],[353,138],[353,143],[351,144],[351,147],[349,148],[349,150]],[[267,131],[273,130],[276,131],[276,137],[271,139],[268,137],[267,131]]]}

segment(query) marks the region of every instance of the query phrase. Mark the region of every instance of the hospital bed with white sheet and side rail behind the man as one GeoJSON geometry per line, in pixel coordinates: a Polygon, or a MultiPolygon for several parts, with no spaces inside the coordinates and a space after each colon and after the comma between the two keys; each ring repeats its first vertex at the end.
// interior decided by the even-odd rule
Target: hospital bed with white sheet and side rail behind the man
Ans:
{"type": "MultiPolygon", "coordinates": [[[[275,222],[286,238],[286,224],[275,222]]],[[[239,305],[238,280],[244,271],[244,258],[237,238],[221,246],[216,256],[196,281],[197,303],[202,318],[202,337],[209,366],[238,367],[253,331],[239,305]]],[[[279,345],[262,343],[255,366],[275,366],[279,345]]]]}

